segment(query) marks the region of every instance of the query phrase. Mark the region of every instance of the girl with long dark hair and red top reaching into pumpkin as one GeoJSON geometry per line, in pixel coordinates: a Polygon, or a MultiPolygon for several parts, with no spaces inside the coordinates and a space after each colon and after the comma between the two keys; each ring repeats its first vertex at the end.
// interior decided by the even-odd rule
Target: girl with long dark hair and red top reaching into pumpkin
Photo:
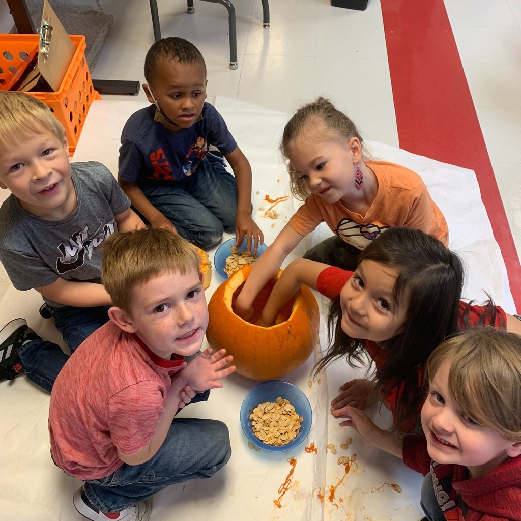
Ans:
{"type": "Polygon", "coordinates": [[[346,357],[350,365],[375,362],[372,380],[357,378],[340,387],[332,414],[345,406],[364,409],[377,396],[393,413],[395,427],[415,428],[425,399],[423,369],[436,346],[458,328],[477,323],[521,332],[521,321],[489,303],[461,301],[464,271],[460,258],[425,232],[394,227],[369,244],[353,272],[296,259],[271,291],[261,325],[304,283],[332,299],[332,345],[317,364],[346,357]]]}

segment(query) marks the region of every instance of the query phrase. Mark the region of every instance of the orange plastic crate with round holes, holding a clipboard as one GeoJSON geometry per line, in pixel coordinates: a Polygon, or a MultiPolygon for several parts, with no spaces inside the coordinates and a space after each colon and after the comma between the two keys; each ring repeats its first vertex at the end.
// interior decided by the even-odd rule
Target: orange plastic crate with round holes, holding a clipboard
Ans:
{"type": "MultiPolygon", "coordinates": [[[[85,36],[70,36],[76,51],[61,80],[58,92],[28,92],[51,107],[64,126],[70,153],[76,150],[83,123],[94,100],[101,100],[92,86],[91,75],[85,61],[85,36]]],[[[0,34],[0,81],[6,80],[11,70],[38,45],[38,34],[0,34]]]]}

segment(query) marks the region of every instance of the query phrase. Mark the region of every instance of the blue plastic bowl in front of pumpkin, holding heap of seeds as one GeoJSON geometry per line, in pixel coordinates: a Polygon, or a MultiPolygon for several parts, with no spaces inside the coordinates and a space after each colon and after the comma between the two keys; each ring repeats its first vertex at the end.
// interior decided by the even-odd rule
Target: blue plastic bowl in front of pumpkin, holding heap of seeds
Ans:
{"type": "Polygon", "coordinates": [[[313,413],[306,395],[298,387],[294,386],[290,382],[285,382],[284,380],[267,380],[259,383],[251,389],[248,394],[246,394],[242,401],[241,427],[246,438],[259,449],[268,452],[283,452],[294,449],[306,439],[312,423],[313,413]],[[304,421],[300,424],[299,433],[286,445],[267,445],[254,435],[250,414],[252,414],[254,408],[258,404],[264,402],[275,402],[279,396],[288,400],[291,405],[295,407],[295,412],[299,416],[302,416],[304,421]]]}

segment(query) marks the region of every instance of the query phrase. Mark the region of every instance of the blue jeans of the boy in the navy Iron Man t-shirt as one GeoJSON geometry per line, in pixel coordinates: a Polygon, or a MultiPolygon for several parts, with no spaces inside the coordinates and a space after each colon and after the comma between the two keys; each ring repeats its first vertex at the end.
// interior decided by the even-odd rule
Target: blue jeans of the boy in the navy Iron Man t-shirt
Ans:
{"type": "Polygon", "coordinates": [[[212,247],[224,231],[235,229],[237,183],[218,158],[207,156],[196,172],[182,181],[142,187],[142,191],[179,235],[196,246],[212,247]]]}

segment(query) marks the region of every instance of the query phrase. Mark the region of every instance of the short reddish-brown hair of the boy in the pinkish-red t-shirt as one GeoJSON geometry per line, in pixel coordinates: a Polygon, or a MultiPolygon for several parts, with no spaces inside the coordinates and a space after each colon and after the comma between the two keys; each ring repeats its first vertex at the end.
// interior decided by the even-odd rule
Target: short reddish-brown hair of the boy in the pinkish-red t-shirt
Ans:
{"type": "Polygon", "coordinates": [[[200,257],[176,233],[160,228],[117,232],[103,243],[101,278],[115,306],[131,314],[133,291],[164,273],[199,272],[200,257]]]}

